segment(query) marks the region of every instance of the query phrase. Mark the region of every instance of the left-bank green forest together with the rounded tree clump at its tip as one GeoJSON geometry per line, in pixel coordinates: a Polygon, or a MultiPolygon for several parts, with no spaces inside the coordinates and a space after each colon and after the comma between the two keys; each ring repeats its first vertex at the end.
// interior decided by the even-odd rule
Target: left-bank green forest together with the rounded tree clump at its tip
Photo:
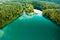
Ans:
{"type": "Polygon", "coordinates": [[[33,6],[27,3],[24,5],[20,2],[7,2],[0,4],[0,28],[3,28],[4,25],[21,16],[23,11],[31,13],[34,12],[33,9],[33,6]]]}

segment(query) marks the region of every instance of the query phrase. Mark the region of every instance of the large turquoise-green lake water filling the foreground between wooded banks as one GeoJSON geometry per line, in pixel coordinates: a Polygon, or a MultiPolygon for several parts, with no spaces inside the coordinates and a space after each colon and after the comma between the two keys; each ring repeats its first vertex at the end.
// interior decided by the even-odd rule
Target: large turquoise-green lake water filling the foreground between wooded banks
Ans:
{"type": "Polygon", "coordinates": [[[60,40],[60,28],[42,16],[23,15],[5,26],[0,40],[60,40]]]}

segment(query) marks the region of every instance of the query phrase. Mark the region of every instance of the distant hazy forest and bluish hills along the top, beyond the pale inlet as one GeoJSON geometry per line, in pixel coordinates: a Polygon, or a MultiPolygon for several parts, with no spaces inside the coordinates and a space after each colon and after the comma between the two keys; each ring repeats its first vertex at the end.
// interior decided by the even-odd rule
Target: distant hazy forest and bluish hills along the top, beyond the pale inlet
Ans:
{"type": "Polygon", "coordinates": [[[60,9],[59,0],[13,0],[21,3],[30,3],[35,9],[60,9]],[[52,1],[52,2],[51,2],[52,1]],[[58,1],[58,2],[57,2],[58,1]],[[57,2],[57,3],[56,3],[57,2]]]}

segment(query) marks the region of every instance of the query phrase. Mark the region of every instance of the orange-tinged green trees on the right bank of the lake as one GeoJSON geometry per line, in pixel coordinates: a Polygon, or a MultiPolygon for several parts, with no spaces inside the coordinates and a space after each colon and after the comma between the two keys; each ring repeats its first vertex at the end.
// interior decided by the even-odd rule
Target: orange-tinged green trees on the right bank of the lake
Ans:
{"type": "Polygon", "coordinates": [[[43,16],[60,25],[60,9],[43,10],[43,16]]]}

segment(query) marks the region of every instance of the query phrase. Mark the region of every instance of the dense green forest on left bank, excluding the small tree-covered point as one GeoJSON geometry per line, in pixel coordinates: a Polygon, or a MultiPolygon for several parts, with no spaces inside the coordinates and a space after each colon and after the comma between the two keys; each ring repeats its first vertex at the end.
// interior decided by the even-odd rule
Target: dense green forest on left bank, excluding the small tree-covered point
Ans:
{"type": "Polygon", "coordinates": [[[5,24],[8,24],[11,20],[17,16],[22,15],[22,5],[20,3],[13,4],[0,4],[0,28],[5,24]]]}

